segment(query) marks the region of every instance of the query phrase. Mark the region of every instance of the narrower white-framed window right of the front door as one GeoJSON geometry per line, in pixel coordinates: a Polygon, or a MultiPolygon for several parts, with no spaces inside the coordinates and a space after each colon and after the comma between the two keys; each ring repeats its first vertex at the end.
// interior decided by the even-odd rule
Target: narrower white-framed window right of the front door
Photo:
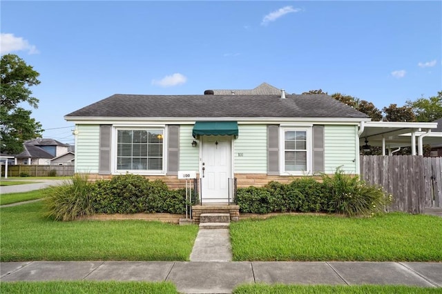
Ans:
{"type": "Polygon", "coordinates": [[[282,128],[281,135],[280,166],[282,174],[303,175],[309,173],[311,169],[309,128],[282,128]]]}

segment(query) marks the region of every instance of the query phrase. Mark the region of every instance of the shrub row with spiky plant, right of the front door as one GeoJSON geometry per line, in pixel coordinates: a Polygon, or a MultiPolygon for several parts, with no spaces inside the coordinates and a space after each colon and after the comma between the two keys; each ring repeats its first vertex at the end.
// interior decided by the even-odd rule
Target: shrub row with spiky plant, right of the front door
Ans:
{"type": "Polygon", "coordinates": [[[238,188],[236,199],[242,213],[328,212],[363,216],[383,212],[391,195],[338,168],[333,176],[322,175],[322,182],[302,177],[289,184],[269,182],[262,188],[238,188]]]}

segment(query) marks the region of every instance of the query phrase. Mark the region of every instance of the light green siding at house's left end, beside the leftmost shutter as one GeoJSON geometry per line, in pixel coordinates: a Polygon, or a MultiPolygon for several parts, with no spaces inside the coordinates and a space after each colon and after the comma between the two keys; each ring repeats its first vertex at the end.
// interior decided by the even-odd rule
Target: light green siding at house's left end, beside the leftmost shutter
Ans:
{"type": "Polygon", "coordinates": [[[75,172],[98,173],[99,125],[77,125],[75,172]]]}

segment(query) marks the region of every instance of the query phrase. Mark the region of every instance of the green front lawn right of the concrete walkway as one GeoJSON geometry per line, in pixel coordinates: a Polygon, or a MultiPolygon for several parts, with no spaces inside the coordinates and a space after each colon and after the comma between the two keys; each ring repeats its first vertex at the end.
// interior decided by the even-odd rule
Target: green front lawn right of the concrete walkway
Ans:
{"type": "Polygon", "coordinates": [[[236,261],[442,261],[442,217],[280,216],[230,226],[236,261]]]}

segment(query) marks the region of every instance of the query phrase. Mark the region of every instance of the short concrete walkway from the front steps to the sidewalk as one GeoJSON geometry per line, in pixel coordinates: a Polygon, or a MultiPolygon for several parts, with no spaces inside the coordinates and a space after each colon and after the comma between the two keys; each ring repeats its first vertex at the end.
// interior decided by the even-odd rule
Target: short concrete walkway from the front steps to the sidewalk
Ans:
{"type": "Polygon", "coordinates": [[[232,252],[228,228],[198,231],[191,253],[191,262],[231,262],[232,252]]]}

